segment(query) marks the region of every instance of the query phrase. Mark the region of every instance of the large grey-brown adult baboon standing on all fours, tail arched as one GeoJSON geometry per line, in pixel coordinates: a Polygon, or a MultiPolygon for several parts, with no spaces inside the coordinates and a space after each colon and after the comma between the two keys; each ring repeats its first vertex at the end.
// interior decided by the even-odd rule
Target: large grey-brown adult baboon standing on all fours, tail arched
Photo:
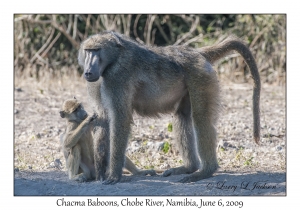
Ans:
{"type": "Polygon", "coordinates": [[[164,176],[192,173],[180,180],[191,182],[216,171],[215,123],[220,102],[212,63],[231,50],[243,56],[254,79],[254,139],[258,142],[260,78],[251,52],[239,39],[229,37],[200,50],[148,47],[114,32],[96,34],[82,42],[78,61],[84,67],[84,77],[88,86],[97,81],[100,88],[89,95],[109,122],[109,174],[104,184],[121,178],[134,111],[147,117],[175,113],[174,130],[184,165],[165,171],[164,176]]]}

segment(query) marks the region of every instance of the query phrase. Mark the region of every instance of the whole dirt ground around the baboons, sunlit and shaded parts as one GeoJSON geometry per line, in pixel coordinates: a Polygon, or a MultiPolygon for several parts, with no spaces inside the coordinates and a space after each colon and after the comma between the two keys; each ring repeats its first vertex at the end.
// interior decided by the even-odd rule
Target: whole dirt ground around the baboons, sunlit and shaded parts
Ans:
{"type": "Polygon", "coordinates": [[[209,179],[178,183],[185,175],[160,173],[182,164],[170,130],[172,115],[135,116],[127,154],[139,168],[158,176],[124,174],[121,183],[69,181],[59,146],[65,122],[59,110],[75,95],[90,111],[84,80],[15,80],[14,195],[286,195],[285,87],[264,85],[261,94],[261,144],[252,139],[252,86],[222,84],[218,123],[219,171],[209,179]],[[67,88],[68,87],[68,88],[67,88]]]}

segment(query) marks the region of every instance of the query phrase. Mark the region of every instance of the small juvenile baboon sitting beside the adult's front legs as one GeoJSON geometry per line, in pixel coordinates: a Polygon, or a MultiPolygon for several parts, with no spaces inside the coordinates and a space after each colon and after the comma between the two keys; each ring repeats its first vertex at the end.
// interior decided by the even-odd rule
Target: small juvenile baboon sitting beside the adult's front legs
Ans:
{"type": "Polygon", "coordinates": [[[92,126],[93,116],[88,116],[74,98],[63,103],[59,112],[67,120],[66,132],[61,135],[61,145],[66,159],[69,179],[87,181],[95,177],[92,126]],[[82,173],[81,173],[82,172],[82,173]]]}

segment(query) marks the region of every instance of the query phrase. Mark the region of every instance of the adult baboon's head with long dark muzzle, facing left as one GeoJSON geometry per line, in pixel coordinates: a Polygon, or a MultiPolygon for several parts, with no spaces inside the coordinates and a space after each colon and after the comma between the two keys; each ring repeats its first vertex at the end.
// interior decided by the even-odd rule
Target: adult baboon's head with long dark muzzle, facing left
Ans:
{"type": "Polygon", "coordinates": [[[84,69],[84,78],[88,82],[97,81],[117,61],[120,47],[122,44],[114,32],[96,34],[82,42],[78,62],[84,69]]]}

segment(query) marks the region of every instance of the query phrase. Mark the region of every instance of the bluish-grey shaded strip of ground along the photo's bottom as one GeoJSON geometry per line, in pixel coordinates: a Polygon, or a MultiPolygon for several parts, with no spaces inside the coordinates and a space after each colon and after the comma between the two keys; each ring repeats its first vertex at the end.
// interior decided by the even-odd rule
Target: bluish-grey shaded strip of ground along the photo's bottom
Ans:
{"type": "Polygon", "coordinates": [[[286,173],[228,173],[194,183],[179,183],[186,175],[126,176],[115,185],[102,185],[99,181],[77,183],[69,181],[62,171],[16,172],[15,196],[264,196],[286,195],[286,173]]]}

